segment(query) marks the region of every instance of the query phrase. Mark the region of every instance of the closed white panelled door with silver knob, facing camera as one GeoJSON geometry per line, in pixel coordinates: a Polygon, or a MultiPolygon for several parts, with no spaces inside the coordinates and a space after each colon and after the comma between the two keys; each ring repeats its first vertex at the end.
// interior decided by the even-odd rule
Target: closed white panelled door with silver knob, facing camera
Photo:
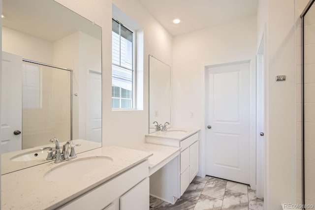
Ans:
{"type": "Polygon", "coordinates": [[[207,70],[206,174],[248,184],[250,63],[214,66],[207,70]]]}

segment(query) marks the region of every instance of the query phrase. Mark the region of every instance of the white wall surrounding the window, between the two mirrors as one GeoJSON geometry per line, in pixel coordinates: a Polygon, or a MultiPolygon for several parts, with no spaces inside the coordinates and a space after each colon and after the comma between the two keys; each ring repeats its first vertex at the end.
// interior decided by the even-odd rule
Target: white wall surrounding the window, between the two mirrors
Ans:
{"type": "MultiPolygon", "coordinates": [[[[102,27],[102,141],[103,146],[134,147],[145,142],[149,131],[149,54],[172,65],[172,36],[135,0],[113,0],[113,3],[143,28],[144,35],[144,107],[143,110],[111,109],[111,0],[57,0],[69,9],[102,27]]],[[[140,81],[141,82],[141,81],[140,81]]]]}

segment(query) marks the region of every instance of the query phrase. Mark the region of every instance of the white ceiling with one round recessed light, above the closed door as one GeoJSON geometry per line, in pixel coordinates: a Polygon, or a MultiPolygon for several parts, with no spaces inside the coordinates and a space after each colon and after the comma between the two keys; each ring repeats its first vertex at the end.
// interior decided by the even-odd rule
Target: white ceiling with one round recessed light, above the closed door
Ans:
{"type": "Polygon", "coordinates": [[[138,0],[173,36],[256,15],[258,0],[138,0]],[[173,24],[174,18],[181,23],[173,24]]]}

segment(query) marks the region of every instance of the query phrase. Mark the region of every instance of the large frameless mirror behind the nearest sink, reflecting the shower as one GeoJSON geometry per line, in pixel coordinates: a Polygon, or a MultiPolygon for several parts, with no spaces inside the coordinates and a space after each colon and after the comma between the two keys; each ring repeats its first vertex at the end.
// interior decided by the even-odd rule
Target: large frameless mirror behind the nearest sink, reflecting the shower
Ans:
{"type": "Polygon", "coordinates": [[[2,0],[1,173],[101,147],[101,28],[54,0],[2,0]]]}

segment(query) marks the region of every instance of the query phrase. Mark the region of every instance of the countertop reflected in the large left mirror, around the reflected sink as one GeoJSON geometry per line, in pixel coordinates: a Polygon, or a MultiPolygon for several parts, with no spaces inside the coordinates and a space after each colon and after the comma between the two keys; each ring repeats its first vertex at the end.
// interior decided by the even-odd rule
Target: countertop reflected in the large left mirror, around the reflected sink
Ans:
{"type": "MultiPolygon", "coordinates": [[[[102,147],[101,143],[91,142],[91,141],[87,141],[87,140],[83,140],[83,139],[75,139],[75,140],[73,140],[73,142],[75,144],[81,145],[79,147],[75,147],[75,152],[77,154],[84,152],[84,151],[93,150],[95,148],[102,147]]],[[[62,146],[63,146],[63,144],[65,144],[65,142],[60,142],[59,144],[62,148],[62,146]]],[[[47,150],[39,150],[40,148],[44,148],[44,147],[55,148],[55,143],[42,145],[42,146],[38,146],[38,147],[26,149],[26,150],[18,150],[18,151],[12,151],[12,152],[7,152],[7,153],[1,154],[1,175],[51,161],[51,160],[46,160],[47,150]],[[11,161],[10,160],[12,157],[14,157],[18,154],[21,154],[21,153],[28,153],[31,151],[34,151],[34,153],[35,153],[35,150],[38,150],[38,151],[36,151],[37,153],[38,152],[44,153],[45,154],[44,158],[38,159],[38,160],[31,160],[31,161],[11,161]]]]}

